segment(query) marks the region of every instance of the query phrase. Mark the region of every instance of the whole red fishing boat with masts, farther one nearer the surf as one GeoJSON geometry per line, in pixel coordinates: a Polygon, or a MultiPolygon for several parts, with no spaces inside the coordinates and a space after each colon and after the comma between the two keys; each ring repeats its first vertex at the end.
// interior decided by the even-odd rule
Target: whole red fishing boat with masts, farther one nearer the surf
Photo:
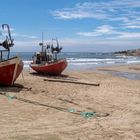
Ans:
{"type": "Polygon", "coordinates": [[[33,55],[33,62],[30,64],[30,67],[37,73],[61,75],[67,67],[67,61],[66,59],[58,59],[57,57],[57,54],[62,50],[58,39],[52,39],[51,44],[44,45],[42,34],[42,43],[39,43],[39,45],[42,47],[42,51],[36,52],[33,55]]]}

